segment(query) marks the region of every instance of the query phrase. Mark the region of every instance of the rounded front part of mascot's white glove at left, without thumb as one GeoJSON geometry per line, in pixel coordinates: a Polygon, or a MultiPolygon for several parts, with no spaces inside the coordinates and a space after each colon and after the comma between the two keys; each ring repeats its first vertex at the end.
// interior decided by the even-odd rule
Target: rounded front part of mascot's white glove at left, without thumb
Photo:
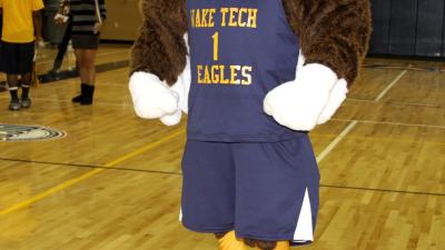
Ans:
{"type": "Polygon", "coordinates": [[[179,97],[165,81],[147,72],[135,72],[129,89],[135,111],[144,119],[158,119],[178,110],[179,97]]]}

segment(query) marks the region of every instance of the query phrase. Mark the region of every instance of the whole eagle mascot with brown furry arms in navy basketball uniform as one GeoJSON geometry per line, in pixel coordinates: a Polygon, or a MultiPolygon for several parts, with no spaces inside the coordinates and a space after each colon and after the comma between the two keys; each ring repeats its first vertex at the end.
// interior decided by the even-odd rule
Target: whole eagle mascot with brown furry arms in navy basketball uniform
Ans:
{"type": "Polygon", "coordinates": [[[308,132],[345,101],[368,0],[141,0],[129,89],[144,119],[188,116],[181,222],[219,250],[314,241],[308,132]]]}

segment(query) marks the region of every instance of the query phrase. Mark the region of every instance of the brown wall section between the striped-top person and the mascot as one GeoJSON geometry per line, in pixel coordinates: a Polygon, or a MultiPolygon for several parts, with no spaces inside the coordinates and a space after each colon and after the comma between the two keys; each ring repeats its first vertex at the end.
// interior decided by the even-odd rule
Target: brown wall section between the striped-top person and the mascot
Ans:
{"type": "Polygon", "coordinates": [[[107,21],[101,39],[132,41],[141,26],[139,0],[106,0],[107,21]]]}

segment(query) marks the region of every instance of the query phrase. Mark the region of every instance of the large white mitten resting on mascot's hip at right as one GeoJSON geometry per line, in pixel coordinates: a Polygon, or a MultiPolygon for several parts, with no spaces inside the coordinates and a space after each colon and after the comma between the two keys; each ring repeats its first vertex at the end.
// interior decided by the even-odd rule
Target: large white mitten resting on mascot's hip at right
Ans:
{"type": "Polygon", "coordinates": [[[266,96],[264,111],[281,126],[309,131],[319,122],[337,81],[337,74],[326,66],[300,67],[294,81],[278,86],[266,96]]]}

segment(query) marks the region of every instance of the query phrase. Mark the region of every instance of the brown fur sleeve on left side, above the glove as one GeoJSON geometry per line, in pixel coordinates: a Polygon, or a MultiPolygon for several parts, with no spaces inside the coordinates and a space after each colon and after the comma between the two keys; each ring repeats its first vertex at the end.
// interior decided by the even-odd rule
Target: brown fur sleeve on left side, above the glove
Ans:
{"type": "Polygon", "coordinates": [[[170,86],[186,66],[186,0],[141,0],[144,24],[131,49],[130,72],[158,76],[170,86]]]}

